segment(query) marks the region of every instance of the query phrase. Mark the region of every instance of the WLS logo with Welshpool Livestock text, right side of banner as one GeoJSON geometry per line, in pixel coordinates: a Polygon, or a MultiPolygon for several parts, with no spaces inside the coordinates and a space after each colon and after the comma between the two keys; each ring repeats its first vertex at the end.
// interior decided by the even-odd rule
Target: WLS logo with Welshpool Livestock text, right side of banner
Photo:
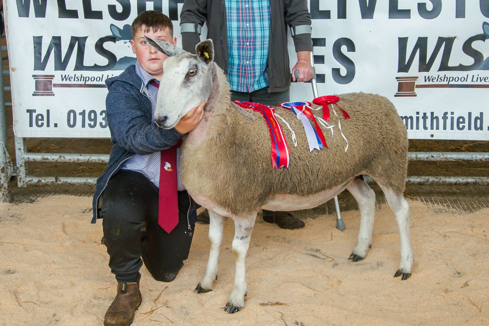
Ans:
{"type": "Polygon", "coordinates": [[[450,55],[453,48],[458,46],[457,37],[439,37],[435,49],[430,54],[428,52],[428,38],[419,37],[414,48],[409,53],[407,48],[408,38],[399,38],[399,66],[398,72],[407,73],[415,63],[415,56],[419,53],[418,72],[428,73],[420,76],[401,76],[396,77],[398,91],[395,97],[418,96],[416,88],[488,88],[488,77],[481,76],[477,71],[489,70],[489,56],[487,55],[487,45],[480,49],[480,41],[486,42],[489,39],[489,22],[482,23],[482,33],[469,37],[463,43],[463,51],[472,58],[472,65],[449,65],[450,55]],[[475,43],[475,44],[474,44],[475,43]],[[437,68],[435,59],[442,52],[440,66],[437,68]],[[432,69],[433,68],[433,69],[432,69]],[[431,73],[435,70],[436,73],[431,73]],[[462,71],[472,71],[465,75],[460,75],[462,71]],[[422,81],[423,84],[418,84],[422,81]]]}

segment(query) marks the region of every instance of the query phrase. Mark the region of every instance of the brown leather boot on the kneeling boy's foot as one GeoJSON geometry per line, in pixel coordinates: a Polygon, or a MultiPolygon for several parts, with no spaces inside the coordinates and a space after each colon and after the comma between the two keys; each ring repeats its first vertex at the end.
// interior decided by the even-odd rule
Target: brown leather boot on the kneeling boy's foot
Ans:
{"type": "Polygon", "coordinates": [[[105,326],[128,326],[133,323],[134,313],[141,304],[139,279],[134,283],[117,283],[117,295],[105,313],[105,326]]]}

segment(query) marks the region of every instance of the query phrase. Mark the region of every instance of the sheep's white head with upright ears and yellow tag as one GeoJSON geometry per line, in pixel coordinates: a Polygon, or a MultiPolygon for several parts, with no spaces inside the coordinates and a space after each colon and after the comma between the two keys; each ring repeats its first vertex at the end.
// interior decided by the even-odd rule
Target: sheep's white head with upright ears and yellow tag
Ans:
{"type": "Polygon", "coordinates": [[[214,45],[212,40],[200,42],[196,46],[195,55],[173,44],[145,37],[151,46],[169,57],[163,63],[155,120],[161,128],[170,129],[190,109],[209,98],[212,91],[214,45]]]}

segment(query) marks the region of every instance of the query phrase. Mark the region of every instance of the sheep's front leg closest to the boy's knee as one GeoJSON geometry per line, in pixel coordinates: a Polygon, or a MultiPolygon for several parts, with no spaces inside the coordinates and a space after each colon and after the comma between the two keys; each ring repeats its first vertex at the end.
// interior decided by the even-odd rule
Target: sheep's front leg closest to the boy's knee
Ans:
{"type": "Polygon", "coordinates": [[[219,248],[221,247],[222,242],[224,217],[209,211],[209,218],[209,241],[211,242],[211,249],[209,252],[209,260],[207,261],[205,275],[195,288],[197,293],[212,291],[214,289],[214,281],[217,280],[219,248]]]}

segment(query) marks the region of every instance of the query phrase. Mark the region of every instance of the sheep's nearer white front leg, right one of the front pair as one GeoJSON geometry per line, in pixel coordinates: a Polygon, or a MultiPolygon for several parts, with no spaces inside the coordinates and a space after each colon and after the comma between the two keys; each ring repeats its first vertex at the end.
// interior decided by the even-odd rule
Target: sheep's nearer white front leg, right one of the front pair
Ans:
{"type": "Polygon", "coordinates": [[[236,274],[234,276],[233,291],[229,295],[224,311],[230,314],[240,311],[244,307],[244,297],[246,296],[245,264],[246,253],[249,247],[249,239],[255,225],[257,213],[234,219],[234,239],[233,255],[236,261],[236,274]]]}

